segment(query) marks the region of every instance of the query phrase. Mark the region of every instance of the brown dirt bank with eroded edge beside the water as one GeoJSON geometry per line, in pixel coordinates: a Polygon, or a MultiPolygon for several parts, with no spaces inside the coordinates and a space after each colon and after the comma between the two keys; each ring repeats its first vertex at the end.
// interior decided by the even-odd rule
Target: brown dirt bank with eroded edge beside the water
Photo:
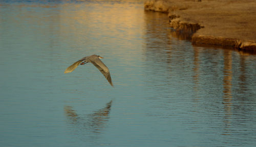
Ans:
{"type": "Polygon", "coordinates": [[[254,0],[146,0],[145,10],[168,13],[177,31],[196,32],[194,45],[256,52],[254,0]]]}

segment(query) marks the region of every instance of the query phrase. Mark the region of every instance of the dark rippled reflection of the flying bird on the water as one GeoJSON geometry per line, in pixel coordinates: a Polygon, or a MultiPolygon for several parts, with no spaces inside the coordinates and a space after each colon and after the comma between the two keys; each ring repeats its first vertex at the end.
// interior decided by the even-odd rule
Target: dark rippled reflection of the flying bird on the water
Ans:
{"type": "Polygon", "coordinates": [[[78,115],[71,106],[65,106],[64,110],[70,122],[81,127],[79,130],[86,129],[93,133],[100,133],[100,130],[105,128],[106,122],[108,122],[111,105],[112,100],[106,103],[104,108],[85,116],[78,115]]]}

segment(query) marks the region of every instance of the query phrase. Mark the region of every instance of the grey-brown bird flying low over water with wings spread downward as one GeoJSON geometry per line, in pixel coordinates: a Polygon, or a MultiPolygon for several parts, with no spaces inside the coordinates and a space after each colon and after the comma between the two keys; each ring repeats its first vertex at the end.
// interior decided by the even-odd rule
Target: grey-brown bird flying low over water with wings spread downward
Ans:
{"type": "Polygon", "coordinates": [[[78,60],[77,62],[73,63],[71,66],[69,66],[64,73],[70,73],[74,71],[79,64],[84,65],[87,63],[92,63],[105,76],[105,78],[109,81],[110,85],[113,86],[109,68],[105,66],[105,64],[100,60],[100,58],[103,58],[103,57],[96,54],[85,56],[80,60],[78,60]]]}

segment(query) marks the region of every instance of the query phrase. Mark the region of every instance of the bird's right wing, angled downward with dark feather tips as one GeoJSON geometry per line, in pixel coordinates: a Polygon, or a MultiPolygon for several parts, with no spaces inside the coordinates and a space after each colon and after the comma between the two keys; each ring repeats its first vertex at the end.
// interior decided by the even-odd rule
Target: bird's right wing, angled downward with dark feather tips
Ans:
{"type": "Polygon", "coordinates": [[[95,60],[91,61],[91,63],[99,69],[99,71],[105,76],[105,78],[113,86],[111,76],[110,76],[110,71],[109,71],[108,67],[106,67],[104,65],[104,63],[99,58],[96,58],[95,60]]]}

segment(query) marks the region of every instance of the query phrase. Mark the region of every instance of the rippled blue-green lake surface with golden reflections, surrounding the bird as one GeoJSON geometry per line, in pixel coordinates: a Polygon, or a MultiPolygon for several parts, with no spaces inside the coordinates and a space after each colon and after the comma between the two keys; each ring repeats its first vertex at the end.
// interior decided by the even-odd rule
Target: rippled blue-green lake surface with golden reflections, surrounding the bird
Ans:
{"type": "Polygon", "coordinates": [[[0,2],[0,146],[256,146],[256,55],[137,1],[0,2]],[[114,87],[92,64],[98,54],[114,87]]]}

